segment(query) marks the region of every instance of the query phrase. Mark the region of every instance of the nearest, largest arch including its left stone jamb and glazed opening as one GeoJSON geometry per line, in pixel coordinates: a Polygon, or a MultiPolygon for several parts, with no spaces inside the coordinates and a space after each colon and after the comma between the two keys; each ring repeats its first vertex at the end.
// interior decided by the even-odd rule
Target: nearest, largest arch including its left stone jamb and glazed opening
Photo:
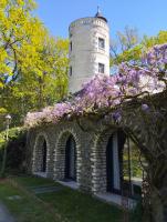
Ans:
{"type": "Polygon", "coordinates": [[[94,147],[92,191],[102,199],[105,196],[101,194],[106,192],[108,195],[114,193],[137,198],[136,193],[139,193],[142,184],[142,178],[136,180],[140,162],[137,160],[136,151],[132,151],[134,144],[127,134],[121,129],[104,131],[94,147]]]}

